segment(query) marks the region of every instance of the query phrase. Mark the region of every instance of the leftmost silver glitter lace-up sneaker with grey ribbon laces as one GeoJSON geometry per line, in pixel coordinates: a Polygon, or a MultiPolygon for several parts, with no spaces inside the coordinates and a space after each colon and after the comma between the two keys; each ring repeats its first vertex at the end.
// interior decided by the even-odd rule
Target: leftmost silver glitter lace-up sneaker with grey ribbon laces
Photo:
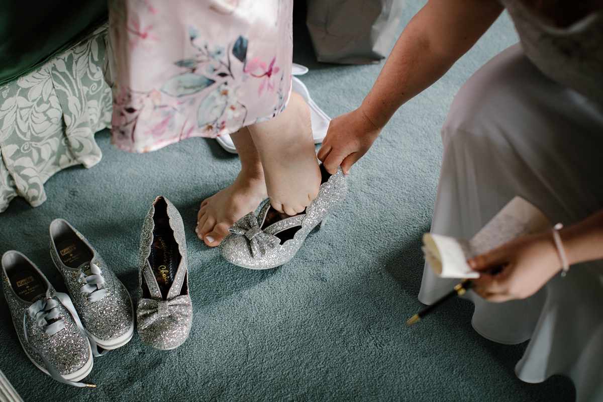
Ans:
{"type": "Polygon", "coordinates": [[[93,387],[78,383],[92,370],[92,349],[69,296],[18,251],[2,256],[2,290],[31,362],[58,382],[93,387]]]}

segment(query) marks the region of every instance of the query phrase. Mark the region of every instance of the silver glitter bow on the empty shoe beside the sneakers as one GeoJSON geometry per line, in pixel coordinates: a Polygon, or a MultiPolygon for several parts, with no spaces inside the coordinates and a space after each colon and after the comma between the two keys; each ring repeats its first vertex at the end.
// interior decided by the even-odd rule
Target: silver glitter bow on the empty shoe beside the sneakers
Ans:
{"type": "Polygon", "coordinates": [[[174,322],[191,319],[191,297],[178,296],[171,300],[143,299],[138,305],[136,319],[140,328],[154,324],[158,319],[168,318],[174,322]]]}

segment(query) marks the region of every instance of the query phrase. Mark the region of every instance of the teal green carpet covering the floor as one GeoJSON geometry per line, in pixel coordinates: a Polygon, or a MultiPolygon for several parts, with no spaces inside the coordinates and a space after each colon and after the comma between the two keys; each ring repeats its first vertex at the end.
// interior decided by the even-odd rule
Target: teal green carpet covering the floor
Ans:
{"type": "MultiPolygon", "coordinates": [[[[406,2],[399,32],[421,4],[406,2]]],[[[312,97],[330,116],[358,107],[383,64],[318,64],[300,11],[294,61],[310,68],[301,78],[312,97]]],[[[236,156],[206,139],[129,154],[110,145],[107,131],[96,134],[97,166],[59,172],[42,206],[15,199],[0,214],[0,251],[27,254],[64,290],[48,253],[48,225],[62,217],[135,294],[142,221],[165,195],[188,236],[191,335],[174,351],[156,351],[134,334],[95,359],[86,381],[96,389],[76,389],[30,363],[0,298],[0,369],[26,401],[573,400],[566,377],[518,380],[513,369],[526,344],[479,336],[469,301],[406,326],[421,309],[420,237],[431,223],[447,108],[479,66],[516,41],[505,14],[449,74],[404,105],[352,169],[345,203],[291,262],[268,271],[230,265],[195,237],[199,204],[235,178],[236,156]]]]}

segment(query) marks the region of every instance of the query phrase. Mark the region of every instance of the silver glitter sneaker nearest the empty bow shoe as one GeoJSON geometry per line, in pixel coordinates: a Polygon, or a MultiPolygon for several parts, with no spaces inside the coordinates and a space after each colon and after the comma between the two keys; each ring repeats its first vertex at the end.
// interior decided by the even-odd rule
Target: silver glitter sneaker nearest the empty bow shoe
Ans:
{"type": "Polygon", "coordinates": [[[63,275],[94,356],[127,344],[134,334],[130,294],[86,238],[65,219],[50,224],[50,255],[63,275]]]}

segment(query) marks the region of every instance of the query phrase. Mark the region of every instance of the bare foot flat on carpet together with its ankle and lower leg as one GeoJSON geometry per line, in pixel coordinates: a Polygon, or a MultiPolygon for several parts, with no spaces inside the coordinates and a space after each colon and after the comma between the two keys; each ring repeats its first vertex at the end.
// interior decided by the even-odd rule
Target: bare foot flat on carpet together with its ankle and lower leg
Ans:
{"type": "Polygon", "coordinates": [[[230,186],[203,200],[197,214],[197,236],[216,247],[233,223],[253,212],[268,196],[264,171],[247,128],[230,136],[241,159],[241,172],[230,186]]]}

